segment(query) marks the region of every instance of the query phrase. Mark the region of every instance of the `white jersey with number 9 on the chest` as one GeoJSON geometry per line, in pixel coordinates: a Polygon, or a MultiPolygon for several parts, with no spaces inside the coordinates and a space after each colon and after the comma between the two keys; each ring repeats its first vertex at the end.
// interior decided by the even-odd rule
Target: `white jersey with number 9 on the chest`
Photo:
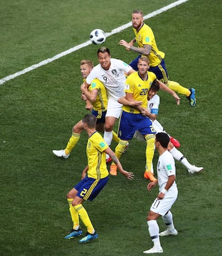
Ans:
{"type": "Polygon", "coordinates": [[[91,85],[92,80],[97,78],[107,89],[108,99],[110,98],[118,101],[120,97],[125,96],[125,73],[128,73],[132,68],[122,60],[110,59],[110,62],[111,65],[109,70],[104,70],[104,68],[101,67],[101,64],[92,68],[92,71],[86,78],[86,83],[91,85]]]}

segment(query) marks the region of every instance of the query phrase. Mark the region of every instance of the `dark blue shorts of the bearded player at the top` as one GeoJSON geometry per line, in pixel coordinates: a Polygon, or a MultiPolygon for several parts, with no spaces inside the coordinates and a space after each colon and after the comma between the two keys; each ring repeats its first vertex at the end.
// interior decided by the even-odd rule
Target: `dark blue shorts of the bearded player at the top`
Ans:
{"type": "MultiPolygon", "coordinates": [[[[138,71],[138,60],[140,57],[141,55],[139,55],[136,59],[130,62],[130,66],[136,71],[138,71]]],[[[162,59],[159,65],[155,67],[150,67],[149,71],[153,72],[157,76],[157,79],[162,81],[162,83],[168,83],[168,72],[164,59],[162,59]]]]}

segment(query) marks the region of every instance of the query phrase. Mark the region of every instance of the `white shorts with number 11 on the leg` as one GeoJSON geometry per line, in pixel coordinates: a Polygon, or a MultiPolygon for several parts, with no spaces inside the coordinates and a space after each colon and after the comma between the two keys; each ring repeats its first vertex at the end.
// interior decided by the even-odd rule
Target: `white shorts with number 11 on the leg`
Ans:
{"type": "Polygon", "coordinates": [[[163,199],[158,200],[157,198],[154,200],[150,207],[150,211],[158,213],[159,215],[165,215],[168,210],[171,209],[172,205],[176,201],[178,197],[178,190],[167,191],[163,199]]]}

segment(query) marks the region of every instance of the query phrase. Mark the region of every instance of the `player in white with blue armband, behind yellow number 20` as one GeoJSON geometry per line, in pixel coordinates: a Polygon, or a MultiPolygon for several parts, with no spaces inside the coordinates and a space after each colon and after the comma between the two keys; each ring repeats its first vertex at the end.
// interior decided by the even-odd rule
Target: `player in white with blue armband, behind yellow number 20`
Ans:
{"type": "MultiPolygon", "coordinates": [[[[148,92],[149,101],[147,104],[147,110],[144,111],[144,115],[147,115],[147,117],[149,117],[152,120],[152,125],[154,126],[154,129],[157,133],[167,133],[164,130],[163,126],[156,120],[158,114],[158,106],[160,105],[160,97],[157,95],[158,89],[159,86],[157,81],[155,80],[148,92]]],[[[125,99],[120,99],[120,102],[123,102],[125,104],[126,102],[124,101],[125,99]]],[[[168,136],[170,137],[168,151],[170,151],[170,153],[176,160],[181,162],[184,165],[184,167],[187,168],[187,171],[189,173],[194,174],[204,170],[203,167],[196,167],[195,165],[191,165],[191,163],[189,163],[186,157],[178,149],[176,149],[176,147],[180,146],[179,142],[175,138],[171,137],[170,134],[168,134],[168,136]]],[[[134,133],[134,138],[138,139],[139,141],[146,142],[144,140],[144,136],[142,136],[142,134],[139,131],[136,131],[136,133],[134,133]]]]}

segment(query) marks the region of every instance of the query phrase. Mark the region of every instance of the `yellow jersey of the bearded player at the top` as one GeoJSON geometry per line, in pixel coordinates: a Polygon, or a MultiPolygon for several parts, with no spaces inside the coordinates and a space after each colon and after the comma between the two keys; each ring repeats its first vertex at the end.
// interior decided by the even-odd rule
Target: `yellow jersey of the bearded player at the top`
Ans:
{"type": "Polygon", "coordinates": [[[135,28],[133,28],[133,31],[139,48],[144,47],[146,44],[151,46],[150,54],[146,56],[150,60],[150,67],[159,65],[162,59],[164,59],[165,53],[158,50],[152,29],[144,23],[139,31],[136,31],[135,28]]]}

